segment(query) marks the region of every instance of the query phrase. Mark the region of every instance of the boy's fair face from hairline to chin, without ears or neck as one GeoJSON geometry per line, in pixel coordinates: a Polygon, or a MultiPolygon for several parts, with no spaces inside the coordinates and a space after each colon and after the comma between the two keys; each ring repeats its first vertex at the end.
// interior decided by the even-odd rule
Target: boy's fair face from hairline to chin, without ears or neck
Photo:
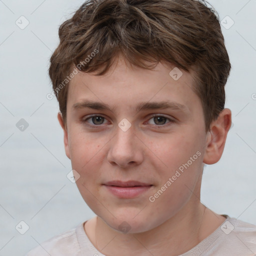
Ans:
{"type": "Polygon", "coordinates": [[[202,105],[192,74],[173,79],[173,67],[147,70],[119,58],[104,75],[79,72],[70,81],[66,155],[84,201],[113,229],[123,221],[132,232],[153,229],[199,192],[202,105]]]}

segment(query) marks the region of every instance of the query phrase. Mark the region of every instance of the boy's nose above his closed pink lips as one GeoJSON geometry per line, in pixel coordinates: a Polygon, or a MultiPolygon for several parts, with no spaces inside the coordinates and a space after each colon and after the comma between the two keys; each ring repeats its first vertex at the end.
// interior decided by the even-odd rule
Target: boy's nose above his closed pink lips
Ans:
{"type": "Polygon", "coordinates": [[[116,135],[110,140],[107,160],[112,165],[131,167],[143,161],[143,143],[130,127],[123,131],[117,127],[116,135]]]}

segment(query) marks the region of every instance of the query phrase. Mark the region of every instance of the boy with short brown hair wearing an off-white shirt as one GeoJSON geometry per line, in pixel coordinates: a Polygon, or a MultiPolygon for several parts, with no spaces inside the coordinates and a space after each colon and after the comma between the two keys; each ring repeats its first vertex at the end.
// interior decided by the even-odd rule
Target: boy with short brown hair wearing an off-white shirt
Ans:
{"type": "Polygon", "coordinates": [[[49,75],[74,179],[95,217],[27,255],[255,255],[256,226],[200,202],[231,125],[219,20],[198,0],[90,0],[49,75]]]}

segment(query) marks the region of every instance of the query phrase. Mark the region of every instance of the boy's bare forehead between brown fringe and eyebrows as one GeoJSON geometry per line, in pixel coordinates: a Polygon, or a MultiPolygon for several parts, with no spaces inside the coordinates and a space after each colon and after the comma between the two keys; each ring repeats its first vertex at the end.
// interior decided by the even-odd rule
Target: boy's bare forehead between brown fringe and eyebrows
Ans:
{"type": "Polygon", "coordinates": [[[188,108],[200,101],[193,73],[159,62],[152,70],[127,65],[123,58],[103,75],[79,71],[69,82],[67,108],[84,99],[130,108],[134,103],[173,101],[188,108]]]}

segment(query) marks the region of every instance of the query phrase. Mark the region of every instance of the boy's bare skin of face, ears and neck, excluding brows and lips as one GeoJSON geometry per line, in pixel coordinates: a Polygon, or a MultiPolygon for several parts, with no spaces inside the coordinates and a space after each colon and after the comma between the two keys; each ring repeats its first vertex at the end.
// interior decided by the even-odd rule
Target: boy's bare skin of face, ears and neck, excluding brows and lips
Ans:
{"type": "Polygon", "coordinates": [[[80,175],[77,187],[98,216],[85,222],[85,232],[105,255],[179,255],[225,220],[200,202],[200,185],[203,164],[221,157],[231,111],[223,109],[206,132],[201,101],[191,89],[193,73],[182,70],[175,81],[169,75],[172,68],[161,62],[153,70],[133,67],[118,56],[104,75],[76,74],[68,88],[66,123],[58,113],[66,155],[80,175]],[[110,109],[72,107],[82,100],[110,109]],[[141,102],[167,100],[185,105],[186,110],[134,108],[141,102]],[[93,114],[104,118],[88,119],[93,114]],[[126,131],[118,127],[123,118],[131,123],[126,131]],[[200,156],[149,201],[196,152],[200,156]],[[102,185],[114,179],[152,186],[135,198],[118,198],[102,185]],[[130,227],[127,233],[120,231],[123,221],[130,227]]]}

